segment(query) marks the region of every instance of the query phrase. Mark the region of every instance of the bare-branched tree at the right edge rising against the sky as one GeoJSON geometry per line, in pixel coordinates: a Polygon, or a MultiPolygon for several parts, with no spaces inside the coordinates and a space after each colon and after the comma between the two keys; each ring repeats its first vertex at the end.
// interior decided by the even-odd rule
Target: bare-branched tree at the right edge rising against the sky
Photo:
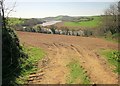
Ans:
{"type": "Polygon", "coordinates": [[[119,32],[118,28],[118,4],[112,4],[108,9],[105,10],[105,16],[103,17],[103,25],[106,30],[110,31],[112,34],[119,32]]]}

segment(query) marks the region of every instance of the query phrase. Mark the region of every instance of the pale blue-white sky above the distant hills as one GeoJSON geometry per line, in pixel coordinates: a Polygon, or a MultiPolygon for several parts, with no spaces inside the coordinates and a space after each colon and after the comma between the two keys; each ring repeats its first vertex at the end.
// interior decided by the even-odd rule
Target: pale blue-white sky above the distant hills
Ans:
{"type": "Polygon", "coordinates": [[[15,2],[10,17],[44,18],[58,15],[102,15],[105,9],[117,0],[7,0],[6,8],[12,8],[15,2]]]}

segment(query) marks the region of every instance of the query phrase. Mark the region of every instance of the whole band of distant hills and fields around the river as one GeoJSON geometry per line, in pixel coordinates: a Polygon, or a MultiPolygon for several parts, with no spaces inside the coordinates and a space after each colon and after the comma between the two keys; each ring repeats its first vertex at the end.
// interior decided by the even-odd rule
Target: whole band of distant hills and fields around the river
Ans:
{"type": "MultiPolygon", "coordinates": [[[[14,29],[22,29],[23,27],[33,28],[36,25],[43,24],[48,21],[62,21],[60,23],[54,24],[59,28],[68,29],[85,29],[85,28],[97,28],[100,24],[100,16],[91,17],[71,17],[71,16],[56,16],[56,17],[45,17],[45,18],[9,18],[9,24],[14,29]]],[[[49,26],[48,26],[49,27],[49,26]]]]}

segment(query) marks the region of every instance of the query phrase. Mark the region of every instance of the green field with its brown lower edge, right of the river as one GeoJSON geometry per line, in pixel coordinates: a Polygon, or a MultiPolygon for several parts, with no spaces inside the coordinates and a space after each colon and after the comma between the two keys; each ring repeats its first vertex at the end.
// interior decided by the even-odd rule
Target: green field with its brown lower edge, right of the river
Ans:
{"type": "Polygon", "coordinates": [[[84,29],[84,28],[98,28],[101,23],[100,16],[92,17],[93,20],[90,21],[81,21],[81,22],[73,22],[73,21],[64,21],[55,24],[57,27],[67,27],[68,29],[84,29]]]}

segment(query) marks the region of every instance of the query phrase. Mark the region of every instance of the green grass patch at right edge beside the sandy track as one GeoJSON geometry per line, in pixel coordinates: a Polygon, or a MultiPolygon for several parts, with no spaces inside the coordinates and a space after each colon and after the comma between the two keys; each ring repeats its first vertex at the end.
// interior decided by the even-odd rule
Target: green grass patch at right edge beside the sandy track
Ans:
{"type": "Polygon", "coordinates": [[[115,66],[113,71],[120,74],[120,51],[101,50],[100,54],[107,59],[111,66],[115,66]]]}

